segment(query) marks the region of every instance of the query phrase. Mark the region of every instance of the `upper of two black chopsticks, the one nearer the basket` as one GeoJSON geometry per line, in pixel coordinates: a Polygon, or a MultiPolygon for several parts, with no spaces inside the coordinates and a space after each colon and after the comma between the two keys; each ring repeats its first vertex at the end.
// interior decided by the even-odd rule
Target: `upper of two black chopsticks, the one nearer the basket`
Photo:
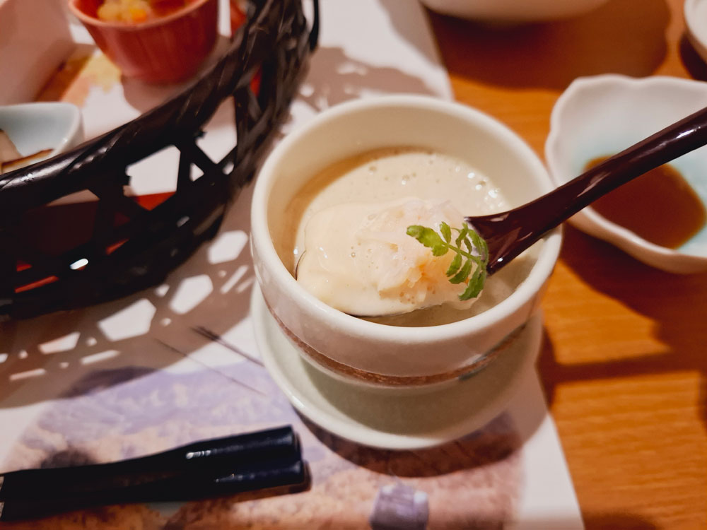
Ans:
{"type": "Polygon", "coordinates": [[[179,478],[186,473],[211,479],[218,473],[267,469],[300,459],[290,426],[194,442],[136,459],[48,469],[24,469],[0,476],[0,501],[81,496],[179,478]]]}

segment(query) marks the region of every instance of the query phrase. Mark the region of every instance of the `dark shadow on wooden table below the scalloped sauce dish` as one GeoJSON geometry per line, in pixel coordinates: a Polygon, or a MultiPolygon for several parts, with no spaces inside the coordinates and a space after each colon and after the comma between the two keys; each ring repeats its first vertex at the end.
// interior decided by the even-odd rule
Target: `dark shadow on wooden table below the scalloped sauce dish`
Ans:
{"type": "Polygon", "coordinates": [[[655,338],[668,351],[568,365],[557,362],[546,336],[539,369],[547,399],[552,401],[555,386],[564,382],[696,371],[701,374],[701,417],[707,420],[707,357],[702,355],[707,344],[707,273],[684,276],[653,269],[571,226],[566,226],[561,260],[592,288],[650,318],[655,338]]]}

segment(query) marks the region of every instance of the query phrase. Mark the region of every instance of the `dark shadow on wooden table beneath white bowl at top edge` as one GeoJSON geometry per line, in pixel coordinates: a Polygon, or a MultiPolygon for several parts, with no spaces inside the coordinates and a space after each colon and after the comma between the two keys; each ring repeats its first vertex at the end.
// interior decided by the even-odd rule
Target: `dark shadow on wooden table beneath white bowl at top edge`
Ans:
{"type": "Polygon", "coordinates": [[[429,13],[450,73],[489,85],[564,90],[580,76],[648,76],[667,53],[664,0],[612,0],[583,16],[484,25],[429,13]]]}

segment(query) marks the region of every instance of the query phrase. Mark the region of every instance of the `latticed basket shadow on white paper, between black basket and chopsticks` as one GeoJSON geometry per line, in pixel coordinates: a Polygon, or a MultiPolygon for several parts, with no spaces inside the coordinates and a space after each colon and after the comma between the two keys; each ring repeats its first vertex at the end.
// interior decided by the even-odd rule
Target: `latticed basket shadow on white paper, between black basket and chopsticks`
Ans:
{"type": "MultiPolygon", "coordinates": [[[[143,377],[210,342],[192,326],[225,331],[245,319],[254,281],[246,246],[251,194],[251,187],[243,190],[214,242],[162,285],[81,310],[2,324],[0,408],[62,396],[71,382],[96,370],[132,366],[129,377],[143,377]],[[228,246],[215,257],[214,249],[228,246]]],[[[84,391],[124,381],[101,379],[84,391]]]]}

